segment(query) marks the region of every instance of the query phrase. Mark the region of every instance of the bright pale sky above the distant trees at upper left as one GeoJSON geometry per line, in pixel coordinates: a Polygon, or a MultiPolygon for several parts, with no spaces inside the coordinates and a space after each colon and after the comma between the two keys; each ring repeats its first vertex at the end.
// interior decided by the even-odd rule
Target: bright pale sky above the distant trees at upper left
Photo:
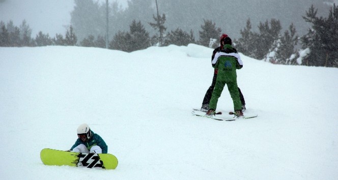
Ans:
{"type": "MultiPolygon", "coordinates": [[[[114,1],[126,7],[128,0],[114,1]]],[[[99,2],[105,3],[105,0],[99,2]]],[[[0,0],[0,21],[7,24],[13,20],[14,25],[19,26],[25,19],[32,28],[33,38],[39,31],[54,37],[55,34],[65,35],[73,9],[73,0],[0,0]]]]}

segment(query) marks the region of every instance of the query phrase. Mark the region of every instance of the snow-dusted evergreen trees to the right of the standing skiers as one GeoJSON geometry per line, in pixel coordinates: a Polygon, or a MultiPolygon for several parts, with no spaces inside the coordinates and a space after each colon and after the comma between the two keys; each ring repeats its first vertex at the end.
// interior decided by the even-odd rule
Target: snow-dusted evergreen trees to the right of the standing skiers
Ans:
{"type": "Polygon", "coordinates": [[[333,5],[328,17],[318,17],[314,6],[303,16],[312,23],[308,33],[296,36],[293,24],[281,34],[278,20],[260,23],[259,33],[251,31],[248,20],[236,47],[245,55],[274,64],[338,67],[338,7],[333,5]],[[300,46],[300,48],[296,48],[300,46]]]}

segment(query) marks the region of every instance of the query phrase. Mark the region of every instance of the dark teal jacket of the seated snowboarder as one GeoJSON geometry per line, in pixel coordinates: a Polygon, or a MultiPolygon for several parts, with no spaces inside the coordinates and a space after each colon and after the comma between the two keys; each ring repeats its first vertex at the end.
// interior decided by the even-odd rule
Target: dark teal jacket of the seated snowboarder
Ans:
{"type": "Polygon", "coordinates": [[[85,144],[88,150],[90,150],[94,145],[98,145],[102,149],[102,154],[107,154],[108,146],[104,142],[104,140],[101,138],[101,136],[98,134],[95,134],[92,130],[91,130],[91,133],[92,133],[92,137],[88,139],[87,142],[83,142],[80,138],[77,138],[77,140],[75,141],[75,144],[70,148],[70,151],[72,151],[73,148],[75,148],[76,146],[80,144],[85,144]]]}

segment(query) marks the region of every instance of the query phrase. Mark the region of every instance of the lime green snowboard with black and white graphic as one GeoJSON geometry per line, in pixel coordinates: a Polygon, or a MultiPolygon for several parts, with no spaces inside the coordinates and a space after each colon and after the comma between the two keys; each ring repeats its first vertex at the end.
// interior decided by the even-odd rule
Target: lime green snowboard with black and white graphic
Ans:
{"type": "Polygon", "coordinates": [[[115,169],[118,166],[118,159],[111,154],[73,153],[46,148],[42,149],[40,158],[45,165],[100,167],[102,169],[115,169]]]}

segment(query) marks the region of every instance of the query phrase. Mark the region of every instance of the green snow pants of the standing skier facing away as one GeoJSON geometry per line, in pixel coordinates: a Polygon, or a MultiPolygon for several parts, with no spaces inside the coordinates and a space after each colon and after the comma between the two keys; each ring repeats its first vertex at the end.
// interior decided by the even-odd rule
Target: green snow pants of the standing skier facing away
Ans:
{"type": "Polygon", "coordinates": [[[223,88],[226,84],[228,86],[230,96],[233,99],[234,110],[236,111],[236,110],[242,109],[241,100],[239,98],[237,81],[226,82],[226,81],[217,81],[217,80],[216,80],[214,91],[212,92],[212,96],[210,99],[209,109],[216,110],[218,98],[220,97],[223,91],[223,88]]]}

